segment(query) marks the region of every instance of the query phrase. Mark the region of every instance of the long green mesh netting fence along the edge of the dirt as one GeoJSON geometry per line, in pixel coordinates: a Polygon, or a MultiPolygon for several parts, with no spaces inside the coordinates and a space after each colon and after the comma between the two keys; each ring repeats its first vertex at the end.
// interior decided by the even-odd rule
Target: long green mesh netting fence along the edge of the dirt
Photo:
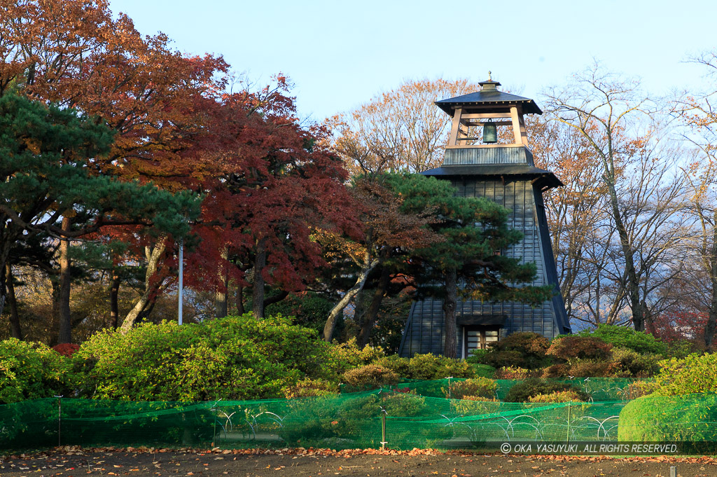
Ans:
{"type": "MultiPolygon", "coordinates": [[[[434,389],[430,383],[421,385],[434,389]]],[[[631,414],[636,418],[624,423],[632,432],[626,434],[628,440],[642,436],[717,442],[717,397],[680,399],[538,404],[450,400],[385,389],[293,400],[198,403],[53,398],[0,406],[0,448],[60,444],[345,449],[380,448],[384,443],[395,449],[484,449],[505,441],[615,442],[620,412],[636,402],[640,406],[631,414]],[[696,411],[683,419],[685,406],[696,411]],[[662,434],[645,435],[645,422],[664,422],[656,431],[662,434]]]]}

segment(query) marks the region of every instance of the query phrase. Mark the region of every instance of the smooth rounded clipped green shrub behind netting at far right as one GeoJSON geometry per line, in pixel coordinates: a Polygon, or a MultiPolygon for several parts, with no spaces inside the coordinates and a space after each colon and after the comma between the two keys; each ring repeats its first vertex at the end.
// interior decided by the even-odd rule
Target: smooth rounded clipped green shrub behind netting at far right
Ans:
{"type": "Polygon", "coordinates": [[[714,442],[717,440],[717,396],[639,397],[620,411],[617,439],[714,442]]]}

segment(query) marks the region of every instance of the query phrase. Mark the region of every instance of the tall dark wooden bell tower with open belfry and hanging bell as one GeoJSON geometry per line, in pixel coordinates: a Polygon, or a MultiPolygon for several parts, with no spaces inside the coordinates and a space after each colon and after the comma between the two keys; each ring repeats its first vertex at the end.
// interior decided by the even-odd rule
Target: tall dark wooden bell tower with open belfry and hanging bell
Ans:
{"type": "MultiPolygon", "coordinates": [[[[549,339],[571,332],[543,205],[543,192],[563,184],[533,163],[523,121],[523,115],[543,112],[531,99],[498,90],[500,82],[490,77],[479,84],[480,91],[435,103],[452,117],[450,138],[442,166],[422,174],[450,181],[463,197],[485,197],[510,209],[508,227],[523,232],[523,240],[501,252],[535,263],[538,273],[532,284],[554,285],[555,294],[538,308],[514,302],[459,301],[456,356],[463,358],[516,331],[533,331],[549,339]],[[499,126],[509,133],[499,135],[499,126]]],[[[401,356],[445,353],[442,305],[432,298],[412,304],[401,356]]]]}

